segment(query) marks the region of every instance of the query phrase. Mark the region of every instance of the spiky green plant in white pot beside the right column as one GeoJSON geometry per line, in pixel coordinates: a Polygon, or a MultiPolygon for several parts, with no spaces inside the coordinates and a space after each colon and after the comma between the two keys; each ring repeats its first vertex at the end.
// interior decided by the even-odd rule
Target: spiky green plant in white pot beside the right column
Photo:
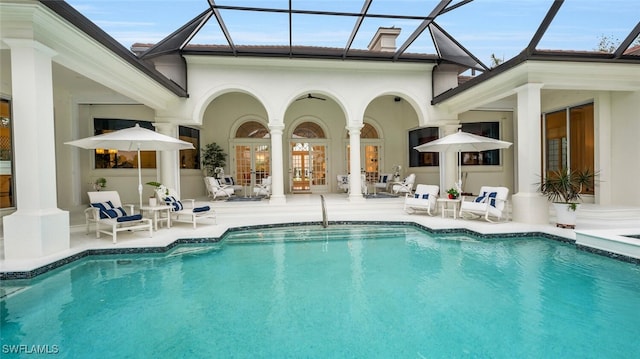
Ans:
{"type": "Polygon", "coordinates": [[[556,226],[575,228],[579,201],[584,191],[592,187],[598,174],[590,169],[550,171],[537,184],[538,190],[556,210],[556,226]]]}

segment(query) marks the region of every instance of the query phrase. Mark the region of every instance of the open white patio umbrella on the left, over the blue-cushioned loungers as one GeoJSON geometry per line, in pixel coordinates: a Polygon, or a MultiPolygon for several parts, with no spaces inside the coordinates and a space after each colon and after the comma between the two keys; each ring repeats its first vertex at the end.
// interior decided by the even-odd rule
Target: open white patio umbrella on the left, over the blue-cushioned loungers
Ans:
{"type": "Polygon", "coordinates": [[[177,151],[195,148],[190,142],[147,130],[137,123],[134,127],[69,141],[65,142],[65,144],[90,150],[109,148],[119,151],[138,151],[138,195],[140,197],[140,207],[142,207],[140,151],[177,151]]]}

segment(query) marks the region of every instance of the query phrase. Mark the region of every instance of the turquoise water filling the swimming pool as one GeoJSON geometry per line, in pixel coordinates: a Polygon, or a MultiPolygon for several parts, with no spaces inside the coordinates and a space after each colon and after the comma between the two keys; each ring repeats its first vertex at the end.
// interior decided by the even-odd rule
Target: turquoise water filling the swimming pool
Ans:
{"type": "Polygon", "coordinates": [[[3,358],[640,352],[640,268],[542,238],[259,230],[162,255],[94,257],[3,286],[3,358]]]}

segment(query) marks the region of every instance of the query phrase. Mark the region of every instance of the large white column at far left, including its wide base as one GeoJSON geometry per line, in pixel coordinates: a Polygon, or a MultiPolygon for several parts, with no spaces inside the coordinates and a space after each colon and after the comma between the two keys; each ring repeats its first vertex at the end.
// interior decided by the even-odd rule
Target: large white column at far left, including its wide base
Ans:
{"type": "Polygon", "coordinates": [[[3,218],[5,259],[69,249],[69,213],[57,208],[51,58],[29,39],[5,39],[11,49],[17,210],[3,218]]]}

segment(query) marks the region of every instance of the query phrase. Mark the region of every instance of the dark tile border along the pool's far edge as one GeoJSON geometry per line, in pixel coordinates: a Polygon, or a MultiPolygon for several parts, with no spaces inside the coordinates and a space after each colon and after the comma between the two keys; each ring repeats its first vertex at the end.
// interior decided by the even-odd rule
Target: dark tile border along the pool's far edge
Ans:
{"type": "MultiPolygon", "coordinates": [[[[216,243],[221,241],[227,234],[233,232],[241,232],[246,230],[256,230],[256,229],[270,229],[270,228],[281,228],[281,227],[303,227],[303,226],[320,226],[322,222],[312,221],[312,222],[293,222],[293,223],[275,223],[275,224],[260,224],[260,225],[250,225],[250,226],[239,226],[228,228],[220,237],[200,237],[200,238],[178,238],[175,241],[169,243],[166,246],[159,247],[136,247],[136,248],[106,248],[106,249],[87,249],[80,253],[71,255],[69,257],[65,257],[63,259],[54,261],[42,267],[38,267],[36,269],[30,271],[21,271],[21,272],[0,272],[0,281],[4,280],[17,280],[17,279],[33,279],[39,275],[50,272],[54,269],[60,268],[67,264],[73,263],[77,260],[80,260],[89,256],[101,256],[101,255],[122,255],[122,254],[158,254],[158,253],[166,253],[169,250],[181,245],[181,244],[204,244],[204,243],[216,243]]],[[[625,255],[612,253],[608,251],[603,251],[596,248],[586,247],[579,244],[575,244],[575,240],[556,236],[549,233],[544,232],[511,232],[511,233],[479,233],[476,231],[472,231],[467,228],[446,228],[446,229],[433,229],[427,226],[421,225],[416,222],[408,222],[408,221],[329,221],[329,225],[403,225],[403,226],[411,226],[416,227],[421,230],[424,230],[428,233],[433,234],[466,234],[469,236],[473,236],[481,239],[492,239],[492,238],[532,238],[532,237],[541,237],[546,238],[558,242],[564,242],[569,244],[574,244],[577,249],[583,250],[586,252],[606,256],[612,259],[620,260],[623,262],[628,262],[636,265],[640,265],[640,259],[628,257],[625,255]]]]}

